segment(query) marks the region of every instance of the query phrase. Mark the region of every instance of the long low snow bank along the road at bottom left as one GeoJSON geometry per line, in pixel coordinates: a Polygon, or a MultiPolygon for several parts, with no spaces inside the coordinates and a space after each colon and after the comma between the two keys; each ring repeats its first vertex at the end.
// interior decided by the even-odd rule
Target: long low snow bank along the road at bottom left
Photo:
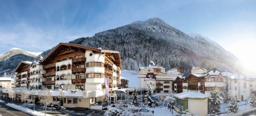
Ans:
{"type": "MultiPolygon", "coordinates": [[[[8,103],[8,104],[6,104],[6,105],[9,106],[9,107],[12,107],[12,108],[14,108],[14,109],[20,110],[20,111],[22,111],[22,112],[24,112],[24,113],[26,113],[26,114],[30,114],[30,115],[32,115],[32,116],[45,116],[45,114],[42,113],[42,112],[37,112],[37,111],[34,112],[34,110],[31,110],[31,109],[28,109],[28,108],[24,108],[24,107],[18,106],[18,105],[16,105],[16,104],[10,104],[10,103],[8,103]]],[[[46,116],[53,116],[53,115],[46,114],[46,116]]]]}

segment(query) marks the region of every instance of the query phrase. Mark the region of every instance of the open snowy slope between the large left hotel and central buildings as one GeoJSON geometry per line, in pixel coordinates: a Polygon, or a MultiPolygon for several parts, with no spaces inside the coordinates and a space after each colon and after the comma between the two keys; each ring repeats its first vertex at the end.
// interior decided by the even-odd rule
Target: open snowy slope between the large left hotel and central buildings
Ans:
{"type": "Polygon", "coordinates": [[[122,70],[121,76],[125,77],[129,80],[128,87],[134,87],[136,85],[137,87],[140,87],[140,81],[138,79],[138,75],[140,73],[133,71],[133,70],[122,70]]]}

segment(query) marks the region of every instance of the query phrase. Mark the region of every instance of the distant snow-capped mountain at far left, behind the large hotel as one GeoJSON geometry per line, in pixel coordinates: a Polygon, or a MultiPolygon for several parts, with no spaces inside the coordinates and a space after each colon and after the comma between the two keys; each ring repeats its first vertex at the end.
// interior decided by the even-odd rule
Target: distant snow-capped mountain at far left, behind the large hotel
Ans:
{"type": "Polygon", "coordinates": [[[32,61],[41,53],[42,52],[34,53],[24,51],[20,48],[12,48],[3,54],[0,54],[0,77],[4,76],[4,72],[7,75],[13,73],[20,61],[32,61]]]}

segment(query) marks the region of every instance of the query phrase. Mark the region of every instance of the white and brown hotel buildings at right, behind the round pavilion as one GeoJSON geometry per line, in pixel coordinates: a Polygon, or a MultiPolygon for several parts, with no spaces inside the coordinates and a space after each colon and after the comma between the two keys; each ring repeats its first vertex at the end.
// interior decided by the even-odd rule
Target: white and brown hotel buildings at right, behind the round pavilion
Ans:
{"type": "MultiPolygon", "coordinates": [[[[193,69],[193,68],[192,68],[193,69]]],[[[206,95],[210,95],[214,87],[223,91],[226,87],[226,80],[229,82],[231,95],[242,101],[250,98],[250,79],[240,72],[229,73],[221,72],[216,68],[212,68],[207,73],[205,70],[193,69],[198,73],[184,73],[182,77],[177,77],[173,81],[173,91],[182,93],[184,91],[200,91],[206,95]],[[201,71],[201,72],[200,72],[201,71]]]]}

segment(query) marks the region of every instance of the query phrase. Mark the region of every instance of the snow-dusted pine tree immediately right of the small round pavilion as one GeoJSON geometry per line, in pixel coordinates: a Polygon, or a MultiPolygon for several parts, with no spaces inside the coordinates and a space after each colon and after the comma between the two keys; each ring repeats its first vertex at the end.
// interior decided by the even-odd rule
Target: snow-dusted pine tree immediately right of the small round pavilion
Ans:
{"type": "Polygon", "coordinates": [[[220,96],[220,90],[217,87],[214,87],[214,91],[210,91],[209,98],[209,109],[210,113],[215,114],[220,112],[220,104],[222,104],[223,98],[220,96]]]}

